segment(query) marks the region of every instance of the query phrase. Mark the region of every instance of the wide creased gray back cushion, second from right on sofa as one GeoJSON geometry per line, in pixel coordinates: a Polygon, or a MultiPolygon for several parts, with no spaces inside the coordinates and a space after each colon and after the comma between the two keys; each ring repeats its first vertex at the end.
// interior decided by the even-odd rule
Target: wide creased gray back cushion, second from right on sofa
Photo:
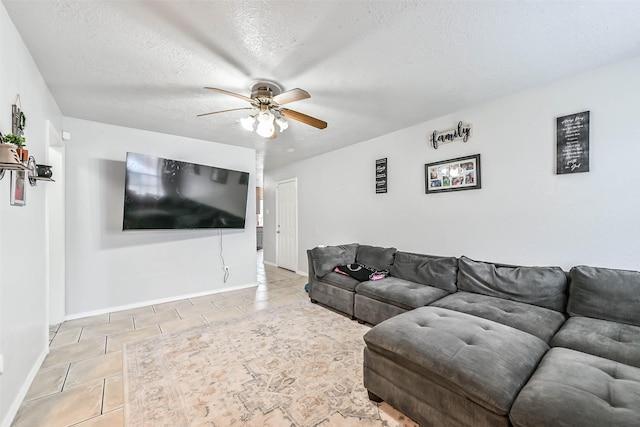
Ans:
{"type": "Polygon", "coordinates": [[[567,275],[560,267],[507,266],[461,257],[458,290],[564,312],[567,275]]]}

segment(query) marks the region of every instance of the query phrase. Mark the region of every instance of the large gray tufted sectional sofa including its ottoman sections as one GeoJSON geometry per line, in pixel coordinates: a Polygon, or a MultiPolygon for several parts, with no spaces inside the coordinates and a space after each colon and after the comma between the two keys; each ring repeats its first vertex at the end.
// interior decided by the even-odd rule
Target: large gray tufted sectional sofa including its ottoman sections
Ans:
{"type": "Polygon", "coordinates": [[[421,426],[640,425],[640,272],[358,244],[308,257],[312,302],[374,325],[369,397],[421,426]],[[389,276],[333,271],[354,262],[389,276]]]}

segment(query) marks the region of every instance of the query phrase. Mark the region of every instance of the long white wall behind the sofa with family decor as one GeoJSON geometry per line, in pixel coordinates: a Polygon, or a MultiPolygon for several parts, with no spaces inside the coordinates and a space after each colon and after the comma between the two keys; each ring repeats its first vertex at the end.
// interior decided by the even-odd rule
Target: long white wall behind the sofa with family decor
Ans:
{"type": "Polygon", "coordinates": [[[267,171],[265,260],[276,260],[275,183],[297,177],[299,270],[308,271],[306,249],[347,242],[640,270],[638,76],[634,59],[267,171]],[[591,171],[556,175],[556,117],[586,110],[591,171]],[[431,132],[460,120],[473,125],[469,142],[428,145],[431,132]],[[425,194],[425,163],[476,153],[481,189],[425,194]],[[389,188],[376,195],[375,160],[383,157],[389,188]]]}

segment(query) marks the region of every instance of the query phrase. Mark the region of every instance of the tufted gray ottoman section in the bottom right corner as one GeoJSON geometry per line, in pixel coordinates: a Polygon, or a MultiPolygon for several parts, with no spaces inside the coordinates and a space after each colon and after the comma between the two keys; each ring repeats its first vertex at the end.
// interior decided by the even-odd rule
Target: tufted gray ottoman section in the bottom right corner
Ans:
{"type": "Polygon", "coordinates": [[[514,426],[638,426],[640,368],[553,348],[513,404],[514,426]]]}

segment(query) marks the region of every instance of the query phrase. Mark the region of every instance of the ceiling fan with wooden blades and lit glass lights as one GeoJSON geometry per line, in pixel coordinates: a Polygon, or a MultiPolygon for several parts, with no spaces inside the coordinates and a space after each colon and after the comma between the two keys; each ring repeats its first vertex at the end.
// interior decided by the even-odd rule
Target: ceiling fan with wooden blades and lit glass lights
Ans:
{"type": "Polygon", "coordinates": [[[205,89],[242,99],[251,104],[251,106],[198,114],[197,117],[227,113],[230,111],[255,110],[256,114],[240,119],[240,123],[245,129],[249,131],[255,130],[258,135],[264,138],[274,139],[276,137],[275,124],[280,128],[280,132],[287,129],[289,127],[289,123],[287,123],[285,118],[296,120],[318,129],[324,129],[327,127],[327,122],[316,119],[315,117],[307,116],[306,114],[302,114],[298,111],[282,107],[285,104],[311,97],[307,91],[302,89],[296,88],[282,92],[282,88],[277,83],[267,81],[255,82],[251,86],[250,97],[215,87],[205,87],[205,89]]]}

